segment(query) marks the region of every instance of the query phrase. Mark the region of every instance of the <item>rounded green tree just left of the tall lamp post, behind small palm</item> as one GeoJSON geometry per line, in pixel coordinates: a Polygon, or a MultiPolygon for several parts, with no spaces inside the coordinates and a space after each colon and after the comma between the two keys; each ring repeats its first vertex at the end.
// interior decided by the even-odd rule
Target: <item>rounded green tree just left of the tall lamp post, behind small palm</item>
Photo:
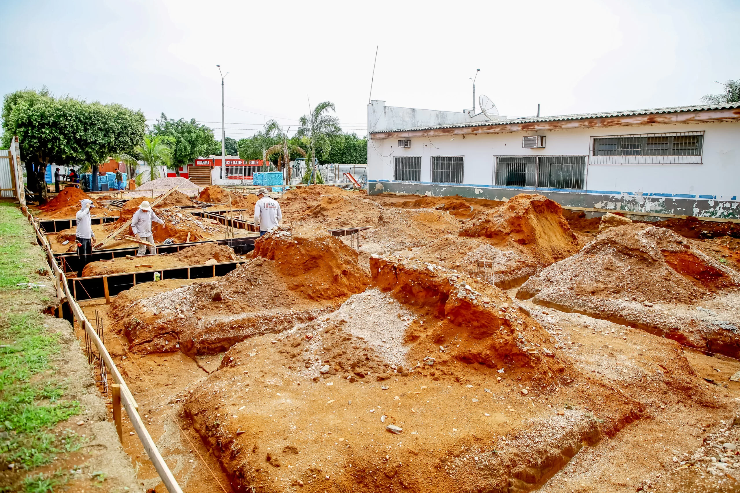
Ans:
{"type": "MultiPolygon", "coordinates": [[[[169,137],[174,139],[172,146],[172,163],[170,169],[180,176],[180,168],[195,161],[198,156],[221,154],[221,143],[213,137],[213,130],[209,126],[201,125],[195,118],[189,121],[181,118],[174,120],[162,113],[160,121],[152,126],[152,136],[169,137]]],[[[232,139],[233,140],[233,139],[232,139]]],[[[164,143],[169,143],[166,140],[164,143]]],[[[226,138],[226,146],[229,139],[226,138]]]]}

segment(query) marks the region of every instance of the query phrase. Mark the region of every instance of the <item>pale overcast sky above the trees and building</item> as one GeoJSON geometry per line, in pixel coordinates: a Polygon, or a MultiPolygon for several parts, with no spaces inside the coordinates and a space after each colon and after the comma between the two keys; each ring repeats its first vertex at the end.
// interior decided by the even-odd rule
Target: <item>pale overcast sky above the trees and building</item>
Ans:
{"type": "Polygon", "coordinates": [[[221,138],[320,101],[366,132],[372,98],[502,115],[699,104],[740,78],[740,1],[2,1],[3,94],[47,86],[196,118],[221,138]]]}

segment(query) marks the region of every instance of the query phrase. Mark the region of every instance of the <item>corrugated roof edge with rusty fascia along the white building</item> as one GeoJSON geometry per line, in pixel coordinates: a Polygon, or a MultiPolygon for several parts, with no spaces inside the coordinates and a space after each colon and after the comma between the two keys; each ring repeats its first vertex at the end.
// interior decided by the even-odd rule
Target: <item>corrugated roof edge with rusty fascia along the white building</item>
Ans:
{"type": "Polygon", "coordinates": [[[701,106],[674,106],[672,108],[652,108],[652,109],[631,109],[621,112],[606,113],[580,113],[576,115],[556,115],[548,117],[533,118],[509,118],[506,120],[475,121],[470,123],[450,123],[448,125],[420,126],[411,129],[386,129],[374,130],[371,134],[383,132],[410,132],[414,130],[432,130],[432,129],[454,129],[467,126],[491,126],[491,125],[509,125],[511,123],[536,123],[547,121],[564,121],[564,120],[588,120],[590,118],[613,118],[633,115],[658,115],[661,113],[681,113],[681,112],[699,112],[712,109],[735,109],[740,108],[740,102],[725,104],[703,104],[701,106]]]}

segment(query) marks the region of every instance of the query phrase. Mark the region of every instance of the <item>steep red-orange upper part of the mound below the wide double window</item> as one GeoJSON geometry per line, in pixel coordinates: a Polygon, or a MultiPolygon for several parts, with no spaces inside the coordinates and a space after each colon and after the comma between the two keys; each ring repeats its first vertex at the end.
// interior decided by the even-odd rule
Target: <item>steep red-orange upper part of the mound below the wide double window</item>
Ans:
{"type": "Polygon", "coordinates": [[[559,203],[542,195],[519,194],[504,205],[476,214],[460,230],[461,237],[485,237],[493,245],[524,245],[541,265],[549,265],[580,249],[576,235],[562,217],[559,203]]]}

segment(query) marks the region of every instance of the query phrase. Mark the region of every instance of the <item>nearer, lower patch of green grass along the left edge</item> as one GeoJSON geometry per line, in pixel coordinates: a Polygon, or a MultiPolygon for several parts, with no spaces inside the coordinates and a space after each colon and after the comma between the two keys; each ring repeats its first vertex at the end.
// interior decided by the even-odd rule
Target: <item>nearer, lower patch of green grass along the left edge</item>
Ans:
{"type": "Polygon", "coordinates": [[[33,469],[62,452],[50,433],[59,422],[81,412],[78,401],[64,401],[65,386],[53,378],[50,357],[61,350],[38,313],[10,315],[0,324],[0,459],[33,469]]]}

